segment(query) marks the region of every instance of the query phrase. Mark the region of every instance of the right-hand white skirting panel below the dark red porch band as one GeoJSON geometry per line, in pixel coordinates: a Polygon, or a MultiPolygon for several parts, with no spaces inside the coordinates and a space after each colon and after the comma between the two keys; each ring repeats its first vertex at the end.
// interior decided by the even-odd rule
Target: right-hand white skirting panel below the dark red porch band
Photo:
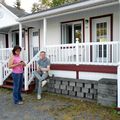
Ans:
{"type": "Polygon", "coordinates": [[[85,80],[95,80],[98,81],[102,78],[117,79],[117,74],[108,74],[108,73],[95,73],[95,72],[79,72],[79,78],[85,80]]]}

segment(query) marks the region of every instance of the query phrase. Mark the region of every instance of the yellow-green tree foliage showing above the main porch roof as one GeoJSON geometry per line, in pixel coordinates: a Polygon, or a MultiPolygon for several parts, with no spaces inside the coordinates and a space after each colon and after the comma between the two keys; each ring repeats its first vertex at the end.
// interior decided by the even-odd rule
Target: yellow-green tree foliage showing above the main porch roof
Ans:
{"type": "Polygon", "coordinates": [[[38,3],[34,3],[32,6],[32,12],[38,12],[40,10],[61,6],[63,4],[76,2],[79,0],[39,0],[38,3]]]}

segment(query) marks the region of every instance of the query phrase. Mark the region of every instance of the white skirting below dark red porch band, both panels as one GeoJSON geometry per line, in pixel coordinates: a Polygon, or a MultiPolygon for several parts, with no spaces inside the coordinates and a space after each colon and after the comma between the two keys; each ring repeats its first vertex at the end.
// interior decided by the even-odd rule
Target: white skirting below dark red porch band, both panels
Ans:
{"type": "MultiPolygon", "coordinates": [[[[65,71],[65,70],[50,70],[49,75],[62,78],[73,78],[76,79],[76,71],[65,71]]],[[[79,71],[79,79],[83,80],[94,80],[98,81],[102,78],[117,79],[117,74],[110,73],[98,73],[98,72],[82,72],[79,71]]]]}

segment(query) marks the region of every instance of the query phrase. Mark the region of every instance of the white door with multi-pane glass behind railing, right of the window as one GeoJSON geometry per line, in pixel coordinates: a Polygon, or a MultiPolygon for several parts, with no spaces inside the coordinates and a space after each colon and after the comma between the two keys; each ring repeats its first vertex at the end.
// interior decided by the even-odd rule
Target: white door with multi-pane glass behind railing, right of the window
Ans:
{"type": "MultiPolygon", "coordinates": [[[[105,43],[111,41],[110,17],[93,19],[92,21],[92,42],[105,43]]],[[[107,54],[110,47],[107,45],[96,45],[93,47],[94,62],[106,62],[110,60],[107,54]]]]}

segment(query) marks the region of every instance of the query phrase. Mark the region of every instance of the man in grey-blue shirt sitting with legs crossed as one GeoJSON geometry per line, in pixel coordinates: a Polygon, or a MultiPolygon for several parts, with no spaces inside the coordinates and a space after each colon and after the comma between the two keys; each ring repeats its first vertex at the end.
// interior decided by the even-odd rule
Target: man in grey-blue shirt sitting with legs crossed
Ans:
{"type": "Polygon", "coordinates": [[[36,87],[37,87],[37,99],[41,99],[42,86],[47,81],[43,81],[48,77],[48,72],[50,70],[50,60],[46,57],[46,52],[40,52],[40,59],[38,60],[37,71],[33,73],[34,77],[37,78],[36,87]]]}

